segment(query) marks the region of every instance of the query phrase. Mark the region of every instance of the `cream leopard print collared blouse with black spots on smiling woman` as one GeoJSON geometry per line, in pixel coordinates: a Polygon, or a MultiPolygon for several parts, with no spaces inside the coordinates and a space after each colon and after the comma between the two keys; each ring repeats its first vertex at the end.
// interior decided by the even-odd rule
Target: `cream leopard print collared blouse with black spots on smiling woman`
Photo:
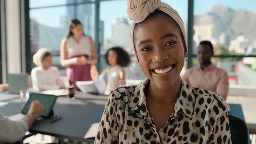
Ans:
{"type": "Polygon", "coordinates": [[[95,144],[230,144],[228,113],[216,93],[182,89],[169,120],[157,132],[146,106],[145,86],[117,88],[106,102],[95,144]]]}

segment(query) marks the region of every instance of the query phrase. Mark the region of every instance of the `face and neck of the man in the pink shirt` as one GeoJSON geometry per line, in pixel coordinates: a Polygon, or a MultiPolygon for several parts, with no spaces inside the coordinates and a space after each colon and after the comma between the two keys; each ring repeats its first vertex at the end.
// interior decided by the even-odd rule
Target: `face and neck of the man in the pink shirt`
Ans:
{"type": "Polygon", "coordinates": [[[211,62],[211,57],[213,56],[213,51],[211,50],[209,45],[199,45],[197,52],[197,59],[200,62],[200,67],[202,69],[209,66],[211,62]]]}

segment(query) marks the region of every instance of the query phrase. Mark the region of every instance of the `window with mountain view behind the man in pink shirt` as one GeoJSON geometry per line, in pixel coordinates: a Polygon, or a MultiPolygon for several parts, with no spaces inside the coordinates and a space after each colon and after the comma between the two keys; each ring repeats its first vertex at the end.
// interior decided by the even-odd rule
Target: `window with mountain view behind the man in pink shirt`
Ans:
{"type": "Polygon", "coordinates": [[[194,57],[200,41],[211,41],[216,56],[212,62],[228,72],[231,84],[256,85],[255,5],[256,1],[194,1],[194,57]]]}

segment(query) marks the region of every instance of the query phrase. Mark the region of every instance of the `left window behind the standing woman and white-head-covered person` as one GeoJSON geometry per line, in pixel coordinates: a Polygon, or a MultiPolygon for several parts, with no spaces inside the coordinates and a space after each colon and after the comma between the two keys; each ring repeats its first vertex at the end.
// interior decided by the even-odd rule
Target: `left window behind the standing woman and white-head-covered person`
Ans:
{"type": "MultiPolygon", "coordinates": [[[[33,1],[33,0],[31,0],[33,1]]],[[[74,1],[74,0],[73,0],[74,1]]],[[[78,1],[78,0],[77,0],[78,1]]],[[[55,2],[55,1],[54,1],[55,2]]],[[[57,2],[57,1],[56,1],[57,2]]],[[[68,1],[70,2],[70,1],[68,1]]],[[[40,4],[40,2],[39,2],[40,4]]],[[[33,3],[31,3],[33,5],[33,3]]],[[[43,2],[42,2],[43,5],[43,2]]],[[[66,36],[68,21],[78,19],[86,35],[95,39],[95,4],[77,4],[30,9],[30,51],[31,57],[40,48],[47,48],[53,55],[53,66],[60,69],[60,43],[66,36]]],[[[31,69],[35,65],[31,62],[31,69]]]]}

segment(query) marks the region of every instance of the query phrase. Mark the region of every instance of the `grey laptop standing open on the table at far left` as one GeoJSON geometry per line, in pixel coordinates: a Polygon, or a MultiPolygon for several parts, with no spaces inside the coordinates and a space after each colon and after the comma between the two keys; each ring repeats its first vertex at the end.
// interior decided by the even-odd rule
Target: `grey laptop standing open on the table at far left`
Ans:
{"type": "Polygon", "coordinates": [[[28,89],[28,74],[8,74],[7,81],[10,93],[18,94],[20,90],[28,89]]]}

